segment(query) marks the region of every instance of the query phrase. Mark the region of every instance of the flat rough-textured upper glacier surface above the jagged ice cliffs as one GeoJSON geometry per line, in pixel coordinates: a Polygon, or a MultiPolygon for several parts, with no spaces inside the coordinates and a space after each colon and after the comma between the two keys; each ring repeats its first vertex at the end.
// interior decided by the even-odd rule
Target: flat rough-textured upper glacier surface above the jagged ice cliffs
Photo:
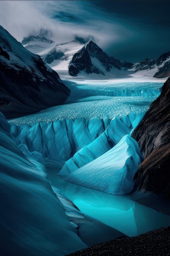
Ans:
{"type": "Polygon", "coordinates": [[[109,83],[108,81],[64,80],[71,90],[64,105],[55,106],[20,118],[9,120],[10,124],[36,124],[64,119],[99,117],[100,119],[124,117],[131,112],[146,112],[161,93],[163,83],[109,83]]]}

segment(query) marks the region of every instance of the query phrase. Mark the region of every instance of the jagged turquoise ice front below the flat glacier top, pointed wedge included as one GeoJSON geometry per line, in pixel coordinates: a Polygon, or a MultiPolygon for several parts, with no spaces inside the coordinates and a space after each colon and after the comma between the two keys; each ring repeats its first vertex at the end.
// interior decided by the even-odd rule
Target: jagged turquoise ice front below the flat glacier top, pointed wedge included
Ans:
{"type": "Polygon", "coordinates": [[[31,152],[31,156],[34,157],[35,160],[42,162],[42,155],[46,166],[62,167],[64,165],[59,173],[64,179],[107,193],[122,195],[132,190],[133,177],[139,164],[143,160],[137,143],[135,143],[130,135],[127,137],[132,129],[135,128],[135,125],[139,123],[143,115],[144,113],[136,115],[136,113],[132,112],[130,115],[122,117],[121,119],[115,117],[112,120],[95,117],[89,120],[84,118],[57,120],[54,122],[37,123],[32,126],[25,124],[16,126],[15,124],[11,124],[11,134],[18,139],[20,148],[22,147],[22,150],[31,152]],[[58,139],[59,137],[60,139],[58,139]],[[123,143],[122,137],[127,137],[123,140],[123,143]],[[38,152],[38,154],[35,152],[38,152]],[[120,156],[121,154],[126,156],[126,159],[121,162],[119,167],[117,166],[117,162],[120,161],[120,159],[117,159],[115,152],[120,156]],[[106,158],[108,159],[107,161],[106,158]],[[93,160],[95,160],[95,162],[93,162],[93,160]],[[92,162],[91,164],[93,164],[95,168],[87,165],[90,162],[92,162]],[[89,180],[92,181],[93,179],[92,177],[91,179],[86,177],[83,171],[84,168],[90,169],[91,173],[96,175],[94,170],[99,169],[98,166],[101,167],[102,163],[104,165],[100,171],[101,175],[104,175],[104,170],[106,171],[108,168],[108,171],[106,171],[106,179],[104,180],[103,176],[101,176],[101,182],[98,173],[97,182],[94,180],[94,183],[90,184],[89,180]],[[119,171],[122,175],[122,177],[118,179],[114,178],[115,184],[110,182],[108,175],[110,172],[112,177],[116,177],[115,173],[111,172],[111,169],[114,169],[114,164],[117,166],[114,172],[119,171]],[[85,167],[82,168],[84,165],[85,167]],[[132,173],[128,170],[132,171],[132,173]],[[71,172],[73,172],[73,174],[68,175],[71,172]],[[126,172],[127,175],[125,174],[126,172]],[[78,180],[75,180],[73,175],[75,175],[78,180]],[[84,182],[80,182],[80,176],[84,177],[84,182]],[[121,180],[124,181],[121,183],[121,180]],[[108,189],[108,182],[112,189],[108,189]],[[100,184],[100,186],[97,186],[97,184],[100,184]],[[126,185],[127,188],[125,189],[126,185]]]}

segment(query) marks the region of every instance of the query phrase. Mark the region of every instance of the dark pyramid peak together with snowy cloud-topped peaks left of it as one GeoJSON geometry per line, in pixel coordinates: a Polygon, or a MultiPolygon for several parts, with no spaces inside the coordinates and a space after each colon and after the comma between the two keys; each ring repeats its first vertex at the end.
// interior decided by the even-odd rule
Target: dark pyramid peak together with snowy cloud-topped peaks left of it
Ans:
{"type": "Polygon", "coordinates": [[[75,37],[71,42],[56,44],[41,35],[29,36],[21,43],[26,49],[40,55],[43,61],[59,74],[65,72],[70,76],[77,76],[83,71],[84,75],[92,73],[102,76],[108,73],[117,75],[117,70],[123,72],[131,69],[133,65],[109,57],[92,40],[86,42],[80,37],[75,37]]]}

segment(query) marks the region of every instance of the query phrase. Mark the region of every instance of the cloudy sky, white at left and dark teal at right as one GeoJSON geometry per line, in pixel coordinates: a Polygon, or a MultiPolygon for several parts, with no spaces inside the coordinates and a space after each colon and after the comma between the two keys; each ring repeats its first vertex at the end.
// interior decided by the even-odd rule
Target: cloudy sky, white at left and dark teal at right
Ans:
{"type": "Polygon", "coordinates": [[[1,0],[0,25],[18,41],[93,40],[109,56],[136,63],[170,51],[169,0],[1,0]]]}

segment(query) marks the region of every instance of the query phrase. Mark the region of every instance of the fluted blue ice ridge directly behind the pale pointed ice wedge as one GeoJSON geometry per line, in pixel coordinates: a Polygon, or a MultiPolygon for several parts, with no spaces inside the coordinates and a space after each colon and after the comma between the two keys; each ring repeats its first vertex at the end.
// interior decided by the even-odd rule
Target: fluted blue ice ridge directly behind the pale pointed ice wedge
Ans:
{"type": "MultiPolygon", "coordinates": [[[[123,118],[115,117],[108,123],[108,126],[99,137],[93,142],[84,146],[82,149],[77,151],[73,157],[65,162],[60,175],[66,175],[71,173],[78,168],[88,164],[97,157],[103,155],[113,146],[115,146],[124,135],[130,134],[133,128],[139,123],[144,113],[135,115],[131,113],[123,118]]],[[[82,133],[79,131],[79,137],[81,138],[82,133]]]]}

